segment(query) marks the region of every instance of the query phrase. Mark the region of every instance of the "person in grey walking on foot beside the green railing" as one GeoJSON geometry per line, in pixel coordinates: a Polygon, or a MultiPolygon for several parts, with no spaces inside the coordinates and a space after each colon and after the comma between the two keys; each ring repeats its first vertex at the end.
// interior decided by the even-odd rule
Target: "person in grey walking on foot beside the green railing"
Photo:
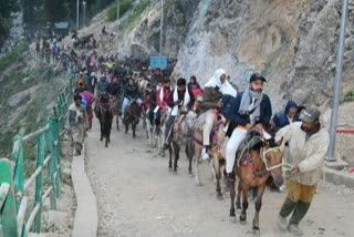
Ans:
{"type": "Polygon", "coordinates": [[[72,142],[75,147],[75,155],[81,155],[87,130],[87,114],[81,101],[81,95],[75,94],[74,103],[69,106],[66,117],[66,131],[72,137],[72,142]]]}

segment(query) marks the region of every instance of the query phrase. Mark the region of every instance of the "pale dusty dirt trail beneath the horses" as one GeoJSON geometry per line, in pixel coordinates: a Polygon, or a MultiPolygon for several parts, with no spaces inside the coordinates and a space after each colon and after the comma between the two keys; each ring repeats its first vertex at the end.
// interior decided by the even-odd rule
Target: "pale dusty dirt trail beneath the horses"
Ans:
{"type": "MultiPolygon", "coordinates": [[[[185,156],[178,174],[167,168],[167,158],[147,146],[139,126],[138,137],[112,132],[105,148],[98,142],[98,124],[87,137],[87,173],[98,205],[98,236],[251,236],[253,203],[247,225],[229,221],[228,195],[217,200],[207,164],[204,186],[187,174],[185,156]]],[[[353,236],[353,190],[322,183],[301,224],[304,236],[353,236]]],[[[260,214],[261,236],[290,236],[275,230],[284,194],[266,190],[260,214]]]]}

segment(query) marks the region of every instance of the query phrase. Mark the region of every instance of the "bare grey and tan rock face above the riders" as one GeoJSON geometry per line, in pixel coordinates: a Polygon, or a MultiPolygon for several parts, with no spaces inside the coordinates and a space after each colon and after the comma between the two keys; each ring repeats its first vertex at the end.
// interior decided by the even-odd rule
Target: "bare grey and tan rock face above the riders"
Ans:
{"type": "MultiPolygon", "coordinates": [[[[112,48],[122,55],[158,52],[159,2],[152,0],[112,48]]],[[[222,68],[243,90],[261,72],[275,110],[289,99],[322,105],[333,94],[341,7],[340,0],[165,0],[163,49],[177,60],[174,79],[196,75],[204,84],[222,68]]],[[[354,86],[353,10],[350,1],[344,91],[354,86]]],[[[106,25],[117,31],[116,22],[106,25]]]]}

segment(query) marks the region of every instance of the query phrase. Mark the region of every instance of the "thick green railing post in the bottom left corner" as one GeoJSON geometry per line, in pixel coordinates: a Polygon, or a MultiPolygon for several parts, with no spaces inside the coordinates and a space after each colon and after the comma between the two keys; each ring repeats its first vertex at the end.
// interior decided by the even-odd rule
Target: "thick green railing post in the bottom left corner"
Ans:
{"type": "Polygon", "coordinates": [[[6,183],[10,185],[8,196],[3,203],[3,207],[0,206],[2,214],[2,234],[3,237],[18,237],[18,214],[15,207],[15,197],[12,183],[12,167],[9,159],[0,159],[0,185],[6,183]]]}

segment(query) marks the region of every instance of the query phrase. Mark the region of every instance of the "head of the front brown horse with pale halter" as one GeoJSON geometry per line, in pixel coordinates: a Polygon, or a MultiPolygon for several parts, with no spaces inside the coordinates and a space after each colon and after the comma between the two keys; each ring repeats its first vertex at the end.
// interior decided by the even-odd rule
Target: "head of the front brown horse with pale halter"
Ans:
{"type": "Polygon", "coordinates": [[[281,171],[283,153],[280,151],[282,142],[283,138],[281,138],[278,143],[262,141],[263,146],[260,154],[267,171],[270,172],[275,185],[278,186],[281,186],[283,184],[283,176],[281,171]]]}

